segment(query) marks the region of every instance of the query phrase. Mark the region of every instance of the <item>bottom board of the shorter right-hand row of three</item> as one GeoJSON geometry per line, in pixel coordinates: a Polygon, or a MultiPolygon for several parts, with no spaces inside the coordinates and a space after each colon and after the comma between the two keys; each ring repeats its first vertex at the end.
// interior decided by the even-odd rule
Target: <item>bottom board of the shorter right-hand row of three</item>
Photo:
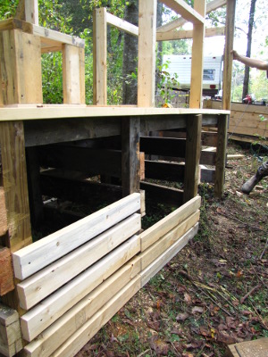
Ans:
{"type": "Polygon", "coordinates": [[[198,230],[198,223],[195,227],[190,228],[183,237],[181,237],[176,243],[168,248],[163,254],[161,254],[155,262],[152,262],[145,270],[142,270],[141,284],[145,286],[150,278],[153,278],[155,274],[163,268],[163,266],[172,260],[172,258],[180,252],[180,250],[187,245],[188,241],[196,236],[198,230]]]}

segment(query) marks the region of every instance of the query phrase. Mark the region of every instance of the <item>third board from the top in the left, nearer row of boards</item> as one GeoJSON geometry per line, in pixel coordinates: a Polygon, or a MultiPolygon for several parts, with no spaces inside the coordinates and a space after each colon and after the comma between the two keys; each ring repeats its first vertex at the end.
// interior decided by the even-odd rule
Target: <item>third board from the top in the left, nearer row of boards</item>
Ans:
{"type": "Polygon", "coordinates": [[[140,239],[138,236],[133,236],[42,303],[26,312],[21,317],[23,338],[31,341],[38,336],[139,252],[140,239]]]}

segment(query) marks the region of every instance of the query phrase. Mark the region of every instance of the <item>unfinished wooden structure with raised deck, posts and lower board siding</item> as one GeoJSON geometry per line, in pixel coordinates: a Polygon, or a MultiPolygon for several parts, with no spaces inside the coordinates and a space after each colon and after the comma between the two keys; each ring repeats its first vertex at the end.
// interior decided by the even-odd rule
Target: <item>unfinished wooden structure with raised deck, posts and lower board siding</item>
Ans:
{"type": "MultiPolygon", "coordinates": [[[[105,106],[107,19],[137,36],[130,24],[105,9],[96,10],[94,93],[98,105],[86,106],[80,39],[40,28],[37,0],[20,3],[20,19],[0,23],[4,193],[0,197],[5,206],[0,260],[6,267],[0,273],[0,291],[4,292],[0,353],[5,356],[21,349],[27,356],[73,356],[196,235],[199,163],[205,155],[201,140],[217,149],[211,160],[215,193],[222,195],[230,112],[201,108],[202,61],[197,57],[203,56],[205,1],[197,2],[194,9],[182,0],[163,3],[194,23],[196,64],[189,109],[154,108],[155,0],[139,2],[138,106],[105,106]],[[45,105],[40,56],[54,50],[63,51],[64,104],[45,105]],[[217,134],[202,134],[202,127],[216,127],[217,134]],[[168,140],[147,136],[155,131],[183,135],[170,135],[168,140]],[[143,161],[145,154],[180,158],[180,164],[143,161]],[[159,177],[163,170],[171,180],[180,181],[183,189],[143,179],[144,171],[147,179],[167,179],[159,177]],[[101,182],[88,181],[96,175],[101,182]],[[140,231],[146,211],[144,193],[176,209],[140,231]],[[70,225],[33,243],[33,228],[51,212],[47,202],[53,202],[53,197],[79,203],[105,197],[110,204],[82,219],[77,216],[70,225]]],[[[213,3],[222,5],[218,0],[213,3]]]]}

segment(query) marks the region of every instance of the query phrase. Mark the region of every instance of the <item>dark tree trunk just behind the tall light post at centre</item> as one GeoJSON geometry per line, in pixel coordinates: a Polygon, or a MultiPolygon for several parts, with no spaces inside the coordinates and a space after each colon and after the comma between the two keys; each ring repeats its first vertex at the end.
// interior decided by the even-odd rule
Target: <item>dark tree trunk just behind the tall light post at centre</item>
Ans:
{"type": "MultiPolygon", "coordinates": [[[[124,20],[138,26],[138,0],[132,0],[125,8],[124,20]]],[[[124,33],[123,65],[122,65],[122,104],[137,104],[138,37],[124,33]]]]}

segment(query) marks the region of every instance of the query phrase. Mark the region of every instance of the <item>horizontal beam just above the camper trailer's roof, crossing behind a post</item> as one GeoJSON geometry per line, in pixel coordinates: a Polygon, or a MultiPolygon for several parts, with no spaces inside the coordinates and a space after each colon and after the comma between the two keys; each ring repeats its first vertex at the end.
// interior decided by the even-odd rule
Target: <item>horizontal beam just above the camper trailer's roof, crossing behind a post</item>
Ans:
{"type": "MultiPolygon", "coordinates": [[[[225,33],[225,27],[205,29],[205,37],[223,36],[225,33]]],[[[169,31],[156,34],[157,41],[171,41],[173,39],[186,39],[193,38],[193,30],[169,31]]]]}

